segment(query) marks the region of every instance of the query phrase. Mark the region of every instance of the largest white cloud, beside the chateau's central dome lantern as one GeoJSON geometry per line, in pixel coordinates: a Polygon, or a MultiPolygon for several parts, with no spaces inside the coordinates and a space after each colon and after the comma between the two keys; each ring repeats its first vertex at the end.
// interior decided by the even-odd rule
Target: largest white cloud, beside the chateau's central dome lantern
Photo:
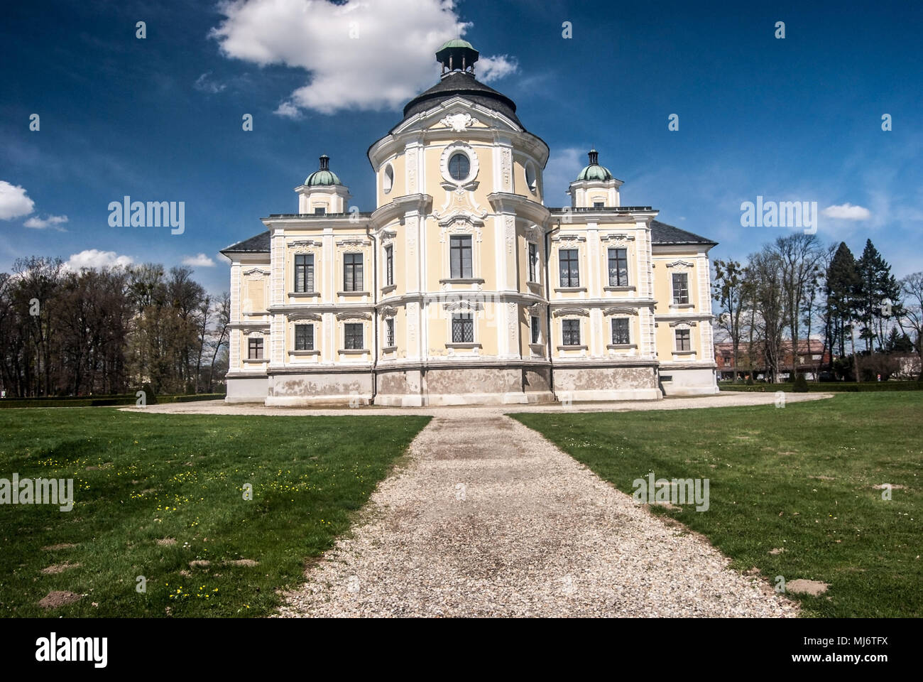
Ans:
{"type": "MultiPolygon", "coordinates": [[[[223,55],[310,73],[276,110],[289,117],[299,108],[330,114],[401,107],[437,82],[436,49],[469,26],[452,0],[225,0],[218,11],[224,19],[210,36],[223,55]]],[[[516,69],[507,55],[481,63],[487,78],[516,69]]]]}

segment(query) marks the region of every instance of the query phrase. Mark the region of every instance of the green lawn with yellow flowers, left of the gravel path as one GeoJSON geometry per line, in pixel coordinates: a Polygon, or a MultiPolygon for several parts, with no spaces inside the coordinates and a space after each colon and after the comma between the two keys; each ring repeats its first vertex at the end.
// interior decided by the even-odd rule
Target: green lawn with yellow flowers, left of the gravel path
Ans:
{"type": "Polygon", "coordinates": [[[0,615],[266,615],[428,420],[2,410],[0,478],[76,490],[70,512],[0,505],[0,615]],[[43,609],[51,591],[83,596],[43,609]]]}

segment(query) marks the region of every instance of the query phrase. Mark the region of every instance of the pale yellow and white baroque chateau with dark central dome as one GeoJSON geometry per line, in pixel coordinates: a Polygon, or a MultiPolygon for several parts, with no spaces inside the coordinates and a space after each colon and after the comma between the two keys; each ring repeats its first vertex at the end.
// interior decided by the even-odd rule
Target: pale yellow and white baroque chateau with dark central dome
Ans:
{"type": "Polygon", "coordinates": [[[717,392],[710,239],[623,206],[597,152],[545,206],[545,141],[452,40],[368,150],[375,211],[320,157],[231,261],[227,400],[532,403],[717,392]]]}

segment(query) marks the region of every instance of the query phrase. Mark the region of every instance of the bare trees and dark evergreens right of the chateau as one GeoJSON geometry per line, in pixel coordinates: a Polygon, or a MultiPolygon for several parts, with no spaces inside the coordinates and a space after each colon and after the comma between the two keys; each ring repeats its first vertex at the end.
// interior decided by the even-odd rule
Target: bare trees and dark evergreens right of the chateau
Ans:
{"type": "Polygon", "coordinates": [[[815,235],[794,234],[745,263],[713,266],[715,324],[732,345],[735,379],[758,366],[773,383],[783,370],[795,378],[797,341],[812,336],[823,339],[821,358],[830,353],[832,378],[887,379],[908,353],[923,367],[923,272],[896,279],[871,239],[857,259],[845,242],[825,246],[815,235]]]}

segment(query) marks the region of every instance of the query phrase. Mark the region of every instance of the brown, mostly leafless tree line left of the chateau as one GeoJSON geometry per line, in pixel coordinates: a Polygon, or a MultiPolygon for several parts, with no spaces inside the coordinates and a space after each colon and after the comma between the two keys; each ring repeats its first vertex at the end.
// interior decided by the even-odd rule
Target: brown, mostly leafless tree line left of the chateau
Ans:
{"type": "Polygon", "coordinates": [[[188,267],[66,268],[18,259],[0,273],[0,384],[6,396],[221,389],[230,297],[188,267]]]}

